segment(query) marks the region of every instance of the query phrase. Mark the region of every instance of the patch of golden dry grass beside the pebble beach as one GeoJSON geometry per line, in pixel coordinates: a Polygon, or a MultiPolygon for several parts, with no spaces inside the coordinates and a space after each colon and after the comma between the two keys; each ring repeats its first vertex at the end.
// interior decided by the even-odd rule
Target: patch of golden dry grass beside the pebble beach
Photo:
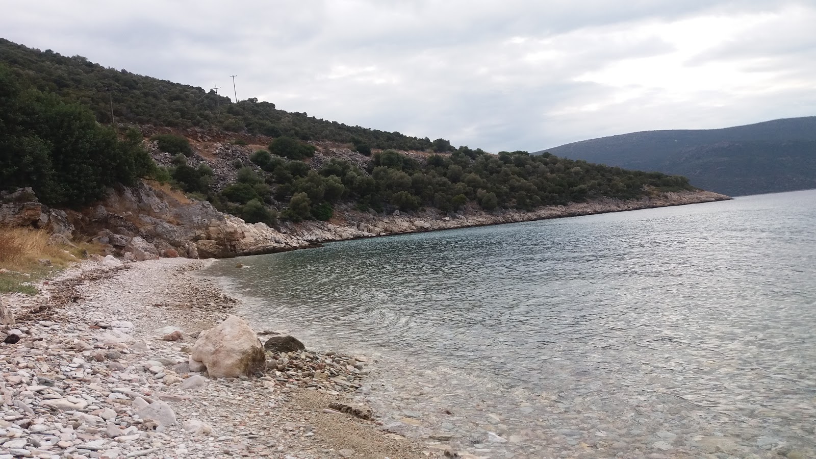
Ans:
{"type": "Polygon", "coordinates": [[[30,228],[0,228],[0,268],[11,271],[0,274],[0,292],[23,292],[33,295],[31,285],[82,259],[82,252],[100,253],[101,246],[77,243],[77,247],[49,245],[48,234],[30,228]],[[51,261],[43,265],[40,260],[51,261]]]}

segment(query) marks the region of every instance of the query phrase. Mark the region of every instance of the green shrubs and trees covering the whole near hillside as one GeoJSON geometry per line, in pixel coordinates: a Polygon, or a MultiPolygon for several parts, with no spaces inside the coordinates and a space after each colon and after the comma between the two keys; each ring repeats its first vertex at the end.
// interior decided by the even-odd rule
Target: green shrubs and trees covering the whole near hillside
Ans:
{"type": "Polygon", "coordinates": [[[337,203],[375,212],[423,207],[455,212],[468,203],[487,211],[532,210],[592,198],[630,199],[694,189],[681,176],[524,151],[487,154],[467,146],[454,148],[444,139],[422,140],[289,114],[255,100],[231,104],[202,88],[105,69],[80,56],[6,41],[0,45],[0,57],[11,63],[0,69],[0,96],[5,98],[0,108],[0,187],[31,186],[50,205],[89,204],[105,187],[130,185],[140,177],[171,181],[220,210],[270,225],[278,217],[328,220],[337,203]],[[110,122],[111,94],[117,131],[96,123],[110,122]],[[272,140],[265,149],[250,149],[245,158],[236,158],[233,182],[215,187],[211,163],[202,160],[188,139],[167,133],[153,136],[159,150],[174,155],[166,167],[157,167],[146,155],[143,137],[132,127],[124,128],[123,121],[219,127],[272,140]],[[314,162],[318,147],[326,148],[316,140],[344,142],[354,150],[354,161],[314,162]]]}

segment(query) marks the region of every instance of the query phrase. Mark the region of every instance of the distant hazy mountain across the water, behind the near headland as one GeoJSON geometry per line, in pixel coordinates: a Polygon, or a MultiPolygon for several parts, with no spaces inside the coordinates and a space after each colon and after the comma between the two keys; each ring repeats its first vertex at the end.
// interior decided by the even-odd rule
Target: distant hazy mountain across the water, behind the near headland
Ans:
{"type": "Polygon", "coordinates": [[[641,171],[689,177],[739,196],[816,188],[816,116],[724,129],[641,131],[541,150],[641,171]]]}

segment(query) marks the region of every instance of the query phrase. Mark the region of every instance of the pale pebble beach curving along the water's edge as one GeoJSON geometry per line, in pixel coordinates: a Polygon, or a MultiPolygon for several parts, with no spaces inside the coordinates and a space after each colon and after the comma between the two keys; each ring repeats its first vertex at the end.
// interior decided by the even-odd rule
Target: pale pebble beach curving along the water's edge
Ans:
{"type": "Polygon", "coordinates": [[[16,336],[0,345],[0,459],[443,457],[350,395],[361,357],[309,347],[268,352],[259,377],[193,372],[195,338],[237,304],[190,273],[206,263],[84,261],[40,296],[3,296],[20,320],[0,333],[16,336]]]}

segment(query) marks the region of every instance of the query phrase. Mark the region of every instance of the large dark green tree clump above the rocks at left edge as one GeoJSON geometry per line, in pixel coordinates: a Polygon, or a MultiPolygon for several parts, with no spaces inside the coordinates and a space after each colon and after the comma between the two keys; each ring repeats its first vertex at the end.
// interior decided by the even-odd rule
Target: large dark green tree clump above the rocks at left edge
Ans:
{"type": "Polygon", "coordinates": [[[89,109],[26,87],[0,66],[0,188],[30,186],[42,203],[78,207],[155,170],[140,136],[119,140],[89,109]]]}

